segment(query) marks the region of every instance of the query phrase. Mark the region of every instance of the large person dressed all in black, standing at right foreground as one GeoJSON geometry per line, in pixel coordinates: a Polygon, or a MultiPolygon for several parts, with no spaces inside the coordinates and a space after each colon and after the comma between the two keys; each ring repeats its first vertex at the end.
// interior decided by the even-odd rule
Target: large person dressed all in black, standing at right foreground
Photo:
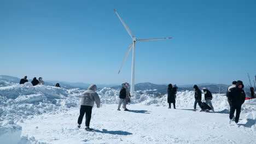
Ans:
{"type": "Polygon", "coordinates": [[[231,119],[234,117],[235,111],[236,111],[235,122],[236,124],[238,123],[241,107],[242,107],[242,104],[245,103],[245,98],[246,98],[246,94],[245,94],[245,91],[243,91],[243,87],[245,87],[243,86],[243,82],[237,81],[236,87],[229,89],[228,99],[231,103],[230,112],[229,112],[229,119],[230,119],[229,123],[231,123],[231,119]]]}

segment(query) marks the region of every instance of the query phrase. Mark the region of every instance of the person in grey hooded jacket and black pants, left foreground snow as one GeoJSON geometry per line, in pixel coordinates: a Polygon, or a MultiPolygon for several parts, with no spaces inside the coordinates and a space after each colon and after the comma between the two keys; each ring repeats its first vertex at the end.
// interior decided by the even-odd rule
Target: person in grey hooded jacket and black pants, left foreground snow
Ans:
{"type": "Polygon", "coordinates": [[[81,127],[84,114],[85,114],[85,130],[91,131],[90,128],[90,121],[91,121],[91,111],[92,107],[94,106],[94,102],[97,105],[97,108],[100,108],[101,106],[101,100],[100,97],[98,97],[98,94],[96,93],[97,86],[96,85],[90,85],[88,90],[83,93],[82,99],[81,99],[81,107],[80,107],[80,115],[78,117],[78,128],[81,127]]]}

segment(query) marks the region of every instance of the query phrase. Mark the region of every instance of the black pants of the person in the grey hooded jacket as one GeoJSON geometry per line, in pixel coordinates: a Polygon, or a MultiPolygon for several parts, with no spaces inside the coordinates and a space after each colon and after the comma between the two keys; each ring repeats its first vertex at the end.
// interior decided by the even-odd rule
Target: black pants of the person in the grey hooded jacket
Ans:
{"type": "Polygon", "coordinates": [[[80,115],[78,117],[78,124],[81,124],[84,118],[84,113],[85,113],[85,126],[89,127],[90,126],[90,121],[91,121],[91,110],[92,106],[89,105],[81,105],[80,107],[80,115]]]}

